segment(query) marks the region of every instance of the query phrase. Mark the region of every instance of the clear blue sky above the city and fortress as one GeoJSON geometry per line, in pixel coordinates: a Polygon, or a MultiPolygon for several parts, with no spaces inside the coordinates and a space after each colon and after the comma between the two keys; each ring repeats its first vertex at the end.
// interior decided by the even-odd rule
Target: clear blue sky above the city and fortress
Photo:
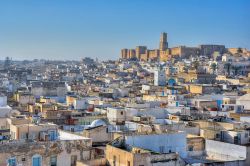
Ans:
{"type": "Polygon", "coordinates": [[[1,0],[0,59],[116,59],[121,48],[250,48],[250,0],[1,0]]]}

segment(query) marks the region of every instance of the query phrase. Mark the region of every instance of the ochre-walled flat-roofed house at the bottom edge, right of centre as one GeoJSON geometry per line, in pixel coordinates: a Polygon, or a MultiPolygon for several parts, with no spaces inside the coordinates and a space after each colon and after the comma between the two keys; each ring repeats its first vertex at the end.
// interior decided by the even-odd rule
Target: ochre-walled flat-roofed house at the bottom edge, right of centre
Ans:
{"type": "Polygon", "coordinates": [[[106,147],[106,159],[109,165],[169,165],[182,166],[185,162],[175,152],[160,153],[151,149],[128,144],[126,138],[117,138],[106,147]]]}

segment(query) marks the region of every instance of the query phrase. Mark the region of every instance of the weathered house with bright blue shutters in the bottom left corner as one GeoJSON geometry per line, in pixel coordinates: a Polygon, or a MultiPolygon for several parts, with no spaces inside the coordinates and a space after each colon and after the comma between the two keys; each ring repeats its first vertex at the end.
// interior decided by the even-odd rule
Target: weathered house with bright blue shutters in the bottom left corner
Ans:
{"type": "Polygon", "coordinates": [[[54,141],[11,141],[0,147],[0,165],[75,166],[93,158],[91,139],[59,131],[54,141]]]}

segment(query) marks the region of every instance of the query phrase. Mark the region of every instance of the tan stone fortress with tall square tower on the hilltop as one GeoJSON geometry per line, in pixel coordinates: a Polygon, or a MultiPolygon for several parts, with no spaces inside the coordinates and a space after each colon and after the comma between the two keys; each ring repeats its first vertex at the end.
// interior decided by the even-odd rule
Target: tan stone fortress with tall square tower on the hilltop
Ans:
{"type": "Polygon", "coordinates": [[[223,54],[227,52],[224,45],[199,45],[197,47],[177,46],[168,47],[167,33],[160,36],[159,49],[149,50],[146,46],[137,46],[135,49],[124,48],[121,50],[121,58],[140,61],[168,61],[172,57],[188,58],[190,56],[210,57],[214,52],[223,54]]]}

